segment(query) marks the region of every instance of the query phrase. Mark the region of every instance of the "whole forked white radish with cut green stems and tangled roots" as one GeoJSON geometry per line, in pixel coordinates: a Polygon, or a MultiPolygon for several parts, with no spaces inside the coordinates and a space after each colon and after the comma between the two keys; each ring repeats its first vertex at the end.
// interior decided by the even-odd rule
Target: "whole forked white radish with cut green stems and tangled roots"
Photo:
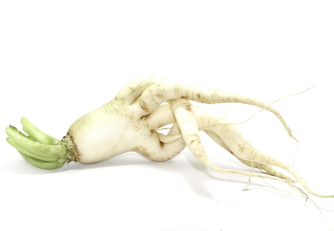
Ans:
{"type": "Polygon", "coordinates": [[[144,76],[128,82],[113,100],[77,119],[62,140],[43,133],[23,117],[21,123],[27,135],[9,126],[7,141],[25,160],[44,169],[55,169],[70,161],[95,163],[128,151],[138,152],[150,160],[165,161],[188,146],[198,161],[215,171],[278,180],[303,192],[292,183],[299,182],[312,195],[334,197],[315,193],[292,166],[254,148],[224,114],[215,109],[193,107],[189,100],[258,106],[272,112],[288,135],[297,140],[280,113],[261,101],[164,77],[144,76]],[[167,135],[157,132],[168,124],[173,126],[167,135]],[[213,165],[200,140],[199,130],[204,130],[243,164],[268,174],[213,165]],[[291,176],[276,171],[273,166],[286,170],[291,176]]]}

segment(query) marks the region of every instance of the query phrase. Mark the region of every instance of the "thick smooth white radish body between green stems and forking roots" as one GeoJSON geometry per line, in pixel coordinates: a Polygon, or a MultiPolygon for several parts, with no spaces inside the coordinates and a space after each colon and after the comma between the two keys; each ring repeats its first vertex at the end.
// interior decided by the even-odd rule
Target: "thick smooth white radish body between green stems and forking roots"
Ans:
{"type": "Polygon", "coordinates": [[[68,129],[73,154],[80,163],[95,163],[132,151],[136,143],[144,143],[136,132],[139,121],[126,107],[111,101],[77,119],[68,129]]]}

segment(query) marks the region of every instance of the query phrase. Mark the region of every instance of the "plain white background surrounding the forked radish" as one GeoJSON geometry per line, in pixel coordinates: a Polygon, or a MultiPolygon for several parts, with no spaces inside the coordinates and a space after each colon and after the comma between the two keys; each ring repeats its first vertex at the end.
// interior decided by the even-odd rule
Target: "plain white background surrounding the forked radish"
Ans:
{"type": "MultiPolygon", "coordinates": [[[[30,119],[61,138],[128,80],[159,74],[273,106],[238,125],[255,147],[333,194],[332,1],[1,1],[0,230],[333,230],[334,199],[207,169],[186,148],[167,162],[135,152],[89,165],[36,168],[6,143],[30,119]],[[297,151],[297,152],[296,152],[297,151]],[[288,195],[288,196],[287,196],[288,195]]],[[[210,105],[241,122],[258,111],[210,105]]],[[[204,133],[219,167],[248,171],[204,133]]],[[[111,137],[112,140],[112,137],[111,137]]],[[[121,143],[120,143],[121,145],[121,143]]],[[[254,170],[258,172],[256,169],[254,170]]]]}

